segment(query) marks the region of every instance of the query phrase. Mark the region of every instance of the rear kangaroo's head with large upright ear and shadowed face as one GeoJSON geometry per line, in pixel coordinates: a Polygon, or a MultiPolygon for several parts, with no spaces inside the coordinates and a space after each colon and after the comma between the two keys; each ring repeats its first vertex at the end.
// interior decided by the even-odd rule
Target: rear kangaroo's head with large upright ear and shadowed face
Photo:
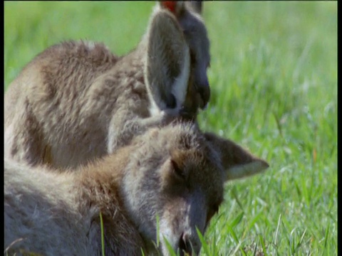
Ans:
{"type": "Polygon", "coordinates": [[[185,3],[165,3],[173,2],[161,1],[155,7],[147,30],[145,82],[150,111],[185,109],[195,116],[210,94],[207,31],[185,3]]]}

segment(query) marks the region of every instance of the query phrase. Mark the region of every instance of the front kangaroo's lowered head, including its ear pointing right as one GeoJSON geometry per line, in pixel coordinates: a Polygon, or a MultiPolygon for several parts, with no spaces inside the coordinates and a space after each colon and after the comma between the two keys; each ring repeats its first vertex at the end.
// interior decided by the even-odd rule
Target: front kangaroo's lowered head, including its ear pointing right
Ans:
{"type": "Polygon", "coordinates": [[[204,233],[217,213],[224,182],[268,167],[234,142],[185,123],[150,129],[135,139],[130,157],[123,178],[126,208],[146,241],[160,238],[163,255],[169,255],[168,245],[180,255],[197,255],[197,229],[204,233]]]}

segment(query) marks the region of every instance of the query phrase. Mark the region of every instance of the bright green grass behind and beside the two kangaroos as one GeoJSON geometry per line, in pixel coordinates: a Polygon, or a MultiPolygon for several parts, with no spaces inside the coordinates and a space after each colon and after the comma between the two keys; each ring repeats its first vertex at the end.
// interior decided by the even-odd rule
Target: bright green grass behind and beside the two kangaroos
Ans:
{"type": "MultiPolygon", "coordinates": [[[[46,47],[128,53],[153,2],[4,3],[4,90],[46,47]]],[[[269,161],[227,183],[202,255],[337,255],[337,2],[205,2],[212,98],[199,114],[269,161]]]]}

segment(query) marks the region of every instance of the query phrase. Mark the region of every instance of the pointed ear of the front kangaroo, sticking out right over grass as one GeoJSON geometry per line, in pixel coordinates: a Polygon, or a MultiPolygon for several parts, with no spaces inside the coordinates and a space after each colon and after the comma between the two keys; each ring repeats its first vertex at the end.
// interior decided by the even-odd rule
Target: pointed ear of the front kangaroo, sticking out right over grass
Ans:
{"type": "Polygon", "coordinates": [[[229,139],[209,132],[206,132],[204,137],[220,154],[222,166],[227,171],[227,181],[259,174],[269,167],[266,161],[252,155],[229,139]]]}

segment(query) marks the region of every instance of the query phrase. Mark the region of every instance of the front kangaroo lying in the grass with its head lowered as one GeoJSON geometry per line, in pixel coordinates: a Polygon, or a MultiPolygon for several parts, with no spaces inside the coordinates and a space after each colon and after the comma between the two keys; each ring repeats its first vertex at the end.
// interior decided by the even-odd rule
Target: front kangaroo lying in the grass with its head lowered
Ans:
{"type": "Polygon", "coordinates": [[[165,239],[181,255],[197,255],[196,227],[205,232],[230,171],[258,173],[267,166],[233,142],[185,123],[151,128],[76,170],[60,173],[6,159],[4,247],[10,254],[100,255],[101,213],[106,255],[140,255],[140,248],[150,255],[157,236],[163,255],[165,239]]]}

